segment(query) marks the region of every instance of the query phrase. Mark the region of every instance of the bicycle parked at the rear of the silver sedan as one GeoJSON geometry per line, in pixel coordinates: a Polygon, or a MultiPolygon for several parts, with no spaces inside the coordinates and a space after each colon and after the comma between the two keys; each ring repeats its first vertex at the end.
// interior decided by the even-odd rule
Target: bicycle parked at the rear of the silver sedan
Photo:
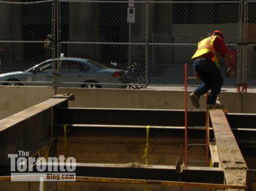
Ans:
{"type": "MultiPolygon", "coordinates": [[[[113,67],[117,68],[119,64],[110,63],[113,67]]],[[[141,89],[146,88],[149,84],[149,78],[146,78],[146,75],[137,69],[138,64],[128,64],[128,67],[125,70],[119,72],[119,77],[122,79],[122,82],[125,84],[130,84],[129,87],[132,89],[141,89]]]]}

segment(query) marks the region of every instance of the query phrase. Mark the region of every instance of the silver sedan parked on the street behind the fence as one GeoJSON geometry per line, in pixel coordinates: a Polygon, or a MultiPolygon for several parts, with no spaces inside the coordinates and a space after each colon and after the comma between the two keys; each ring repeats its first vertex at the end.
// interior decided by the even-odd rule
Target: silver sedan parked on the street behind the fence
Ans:
{"type": "MultiPolygon", "coordinates": [[[[59,87],[127,87],[122,85],[123,82],[120,79],[120,69],[108,68],[95,61],[82,58],[60,58],[60,63],[61,76],[59,76],[59,87]]],[[[52,60],[44,61],[25,71],[0,74],[2,85],[9,86],[52,86],[53,78],[52,60]]]]}

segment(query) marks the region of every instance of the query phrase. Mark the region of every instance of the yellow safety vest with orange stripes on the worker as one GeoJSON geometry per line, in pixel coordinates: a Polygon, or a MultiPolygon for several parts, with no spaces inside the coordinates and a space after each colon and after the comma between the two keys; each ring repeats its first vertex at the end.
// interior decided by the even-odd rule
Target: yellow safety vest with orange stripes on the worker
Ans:
{"type": "Polygon", "coordinates": [[[218,52],[213,47],[213,41],[217,37],[217,35],[210,36],[208,38],[205,38],[201,40],[198,43],[198,48],[196,53],[193,55],[192,59],[195,59],[197,57],[200,57],[206,53],[212,52],[214,55],[214,58],[212,58],[212,61],[214,61],[215,65],[219,67],[218,65],[218,52]]]}

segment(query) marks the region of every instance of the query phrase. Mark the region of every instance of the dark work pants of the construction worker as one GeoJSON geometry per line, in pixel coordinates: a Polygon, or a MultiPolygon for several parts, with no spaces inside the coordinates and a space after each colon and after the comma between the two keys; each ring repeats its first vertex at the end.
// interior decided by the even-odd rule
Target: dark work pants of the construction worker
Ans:
{"type": "Polygon", "coordinates": [[[223,78],[219,69],[211,60],[193,61],[193,67],[204,82],[201,86],[196,88],[194,93],[200,97],[211,89],[211,94],[208,95],[207,103],[215,104],[217,95],[220,93],[223,84],[223,78]]]}

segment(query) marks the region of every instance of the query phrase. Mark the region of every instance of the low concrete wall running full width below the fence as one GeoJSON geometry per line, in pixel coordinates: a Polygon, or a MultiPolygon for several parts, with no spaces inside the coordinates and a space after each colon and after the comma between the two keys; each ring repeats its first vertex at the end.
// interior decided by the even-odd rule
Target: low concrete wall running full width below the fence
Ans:
{"type": "MultiPolygon", "coordinates": [[[[47,100],[55,93],[50,87],[0,86],[0,119],[47,100]]],[[[57,94],[71,93],[70,107],[184,109],[184,91],[114,90],[59,88],[57,94]]],[[[232,113],[256,113],[256,94],[221,92],[220,101],[232,113]]],[[[204,97],[200,98],[205,108],[204,97]]],[[[196,109],[188,100],[188,109],[196,109]]]]}

